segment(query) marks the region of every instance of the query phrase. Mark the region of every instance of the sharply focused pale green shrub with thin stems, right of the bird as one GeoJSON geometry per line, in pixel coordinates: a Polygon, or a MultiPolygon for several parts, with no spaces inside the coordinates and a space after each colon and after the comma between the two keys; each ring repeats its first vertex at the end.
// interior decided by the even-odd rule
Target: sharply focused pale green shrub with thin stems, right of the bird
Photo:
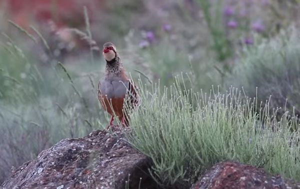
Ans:
{"type": "Polygon", "coordinates": [[[142,104],[131,115],[128,141],[152,159],[158,182],[184,188],[214,163],[228,159],[300,180],[295,161],[300,156],[299,133],[285,129],[294,119],[286,121],[284,114],[276,121],[276,112],[266,113],[268,103],[261,106],[266,117],[259,119],[257,101],[242,101],[235,88],[204,94],[181,92],[176,83],[163,94],[155,87],[141,89],[142,104]]]}

